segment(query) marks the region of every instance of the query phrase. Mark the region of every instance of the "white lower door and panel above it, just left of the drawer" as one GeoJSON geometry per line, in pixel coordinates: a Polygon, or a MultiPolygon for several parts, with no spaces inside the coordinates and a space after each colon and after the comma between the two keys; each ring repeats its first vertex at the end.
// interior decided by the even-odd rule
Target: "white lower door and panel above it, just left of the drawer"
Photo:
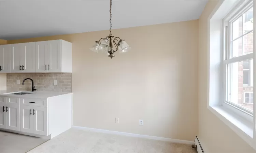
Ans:
{"type": "Polygon", "coordinates": [[[6,97],[6,129],[20,131],[19,98],[6,97]]]}

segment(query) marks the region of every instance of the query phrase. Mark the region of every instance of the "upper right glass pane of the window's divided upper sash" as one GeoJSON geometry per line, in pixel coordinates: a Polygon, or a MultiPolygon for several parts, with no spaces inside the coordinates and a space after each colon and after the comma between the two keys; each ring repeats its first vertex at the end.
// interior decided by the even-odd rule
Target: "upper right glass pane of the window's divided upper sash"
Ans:
{"type": "Polygon", "coordinates": [[[253,7],[243,14],[243,34],[253,30],[253,7]]]}

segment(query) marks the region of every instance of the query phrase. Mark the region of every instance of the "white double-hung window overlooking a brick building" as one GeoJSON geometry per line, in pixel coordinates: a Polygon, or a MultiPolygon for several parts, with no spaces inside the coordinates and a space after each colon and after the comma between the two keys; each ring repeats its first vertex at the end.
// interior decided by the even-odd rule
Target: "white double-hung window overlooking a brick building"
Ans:
{"type": "Polygon", "coordinates": [[[253,4],[238,10],[224,21],[224,103],[253,115],[253,4]]]}

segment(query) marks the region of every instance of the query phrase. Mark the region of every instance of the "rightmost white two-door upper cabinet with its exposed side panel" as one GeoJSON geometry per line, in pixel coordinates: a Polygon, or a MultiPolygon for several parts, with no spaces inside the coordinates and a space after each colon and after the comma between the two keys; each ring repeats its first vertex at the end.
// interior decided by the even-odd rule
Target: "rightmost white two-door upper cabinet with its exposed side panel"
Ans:
{"type": "Polygon", "coordinates": [[[36,42],[35,72],[72,72],[72,43],[65,40],[36,42]]]}

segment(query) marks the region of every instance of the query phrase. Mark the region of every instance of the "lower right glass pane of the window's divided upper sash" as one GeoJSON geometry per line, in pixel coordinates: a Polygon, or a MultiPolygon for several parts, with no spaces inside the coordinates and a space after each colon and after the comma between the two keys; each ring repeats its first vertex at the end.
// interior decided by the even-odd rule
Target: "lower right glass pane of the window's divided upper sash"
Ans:
{"type": "Polygon", "coordinates": [[[243,36],[242,55],[253,53],[253,32],[243,36]]]}

